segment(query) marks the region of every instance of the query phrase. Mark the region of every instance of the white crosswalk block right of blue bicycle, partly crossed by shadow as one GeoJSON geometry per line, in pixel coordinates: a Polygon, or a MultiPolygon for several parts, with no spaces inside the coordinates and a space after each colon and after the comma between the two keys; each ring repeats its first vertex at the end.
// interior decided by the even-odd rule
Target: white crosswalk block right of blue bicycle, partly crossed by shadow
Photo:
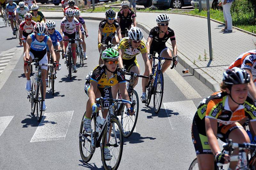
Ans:
{"type": "MultiPolygon", "coordinates": [[[[196,106],[192,100],[164,103],[164,108],[169,119],[171,129],[173,129],[173,124],[180,121],[181,117],[182,119],[187,119],[189,124],[192,124],[193,117],[196,113],[196,106]]],[[[178,128],[178,126],[176,127],[178,128]]]]}

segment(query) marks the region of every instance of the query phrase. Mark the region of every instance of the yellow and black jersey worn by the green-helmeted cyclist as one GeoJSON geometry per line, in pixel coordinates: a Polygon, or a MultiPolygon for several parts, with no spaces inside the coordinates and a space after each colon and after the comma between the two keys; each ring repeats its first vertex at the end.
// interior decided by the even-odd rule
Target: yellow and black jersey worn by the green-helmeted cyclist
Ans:
{"type": "Polygon", "coordinates": [[[108,88],[116,85],[117,83],[125,83],[123,70],[118,69],[117,71],[117,69],[118,67],[108,79],[104,64],[98,65],[91,73],[89,73],[87,81],[96,81],[99,88],[108,88]]]}

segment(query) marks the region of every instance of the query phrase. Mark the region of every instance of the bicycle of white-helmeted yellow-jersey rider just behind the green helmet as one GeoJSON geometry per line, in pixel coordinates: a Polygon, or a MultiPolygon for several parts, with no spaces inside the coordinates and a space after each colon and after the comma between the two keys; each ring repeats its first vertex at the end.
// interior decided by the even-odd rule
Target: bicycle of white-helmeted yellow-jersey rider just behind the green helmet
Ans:
{"type": "MultiPolygon", "coordinates": [[[[133,89],[133,86],[137,85],[138,83],[136,77],[148,79],[148,76],[135,74],[133,72],[126,73],[126,75],[131,76],[129,80],[127,79],[125,80],[127,82],[127,93],[129,95],[130,101],[135,102],[135,104],[133,105],[135,113],[133,115],[130,115],[127,111],[125,104],[118,103],[117,113],[119,113],[118,116],[121,116],[121,124],[123,127],[124,138],[128,138],[132,135],[132,132],[134,131],[134,128],[136,126],[137,119],[139,116],[139,96],[136,90],[133,89]]],[[[122,99],[122,95],[119,89],[118,89],[117,97],[118,99],[122,99]]]]}

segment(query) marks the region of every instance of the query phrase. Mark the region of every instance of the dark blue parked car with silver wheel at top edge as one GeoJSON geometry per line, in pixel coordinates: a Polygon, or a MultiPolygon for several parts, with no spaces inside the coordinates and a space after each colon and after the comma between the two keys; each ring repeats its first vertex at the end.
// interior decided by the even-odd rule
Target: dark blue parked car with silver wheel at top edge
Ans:
{"type": "Polygon", "coordinates": [[[153,5],[158,8],[180,9],[183,6],[190,6],[191,0],[153,0],[153,5]]]}

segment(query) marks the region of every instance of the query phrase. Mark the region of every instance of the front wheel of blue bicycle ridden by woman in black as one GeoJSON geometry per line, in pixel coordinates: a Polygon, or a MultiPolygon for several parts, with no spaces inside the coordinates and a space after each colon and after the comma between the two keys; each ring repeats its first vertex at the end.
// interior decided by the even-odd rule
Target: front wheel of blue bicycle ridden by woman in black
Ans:
{"type": "Polygon", "coordinates": [[[164,75],[162,71],[158,71],[158,74],[156,77],[155,92],[154,92],[155,113],[158,113],[159,110],[161,109],[163,94],[164,94],[164,75]]]}

